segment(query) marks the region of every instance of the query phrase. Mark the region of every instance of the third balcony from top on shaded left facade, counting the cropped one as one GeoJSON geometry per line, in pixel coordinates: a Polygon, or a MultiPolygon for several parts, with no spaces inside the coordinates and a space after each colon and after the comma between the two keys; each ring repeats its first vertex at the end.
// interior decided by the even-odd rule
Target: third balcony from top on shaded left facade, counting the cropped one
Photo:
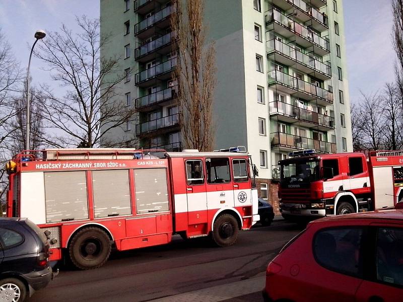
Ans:
{"type": "Polygon", "coordinates": [[[135,49],[135,59],[139,62],[147,62],[158,55],[171,52],[171,44],[176,38],[175,32],[163,35],[147,44],[135,49]]]}

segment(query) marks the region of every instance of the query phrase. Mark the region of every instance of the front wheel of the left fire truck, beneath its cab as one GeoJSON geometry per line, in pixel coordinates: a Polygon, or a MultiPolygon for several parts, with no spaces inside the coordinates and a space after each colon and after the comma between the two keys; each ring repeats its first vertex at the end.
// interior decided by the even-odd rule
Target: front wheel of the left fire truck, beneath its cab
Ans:
{"type": "Polygon", "coordinates": [[[239,226],[234,216],[230,214],[218,216],[213,228],[213,240],[219,247],[228,247],[236,242],[239,226]]]}

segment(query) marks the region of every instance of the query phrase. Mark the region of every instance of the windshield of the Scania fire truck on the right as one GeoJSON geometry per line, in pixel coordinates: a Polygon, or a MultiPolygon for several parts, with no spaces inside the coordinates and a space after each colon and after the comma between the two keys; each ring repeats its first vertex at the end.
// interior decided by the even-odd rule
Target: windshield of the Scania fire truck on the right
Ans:
{"type": "Polygon", "coordinates": [[[319,162],[313,160],[295,161],[281,164],[281,184],[307,184],[319,179],[319,162]]]}

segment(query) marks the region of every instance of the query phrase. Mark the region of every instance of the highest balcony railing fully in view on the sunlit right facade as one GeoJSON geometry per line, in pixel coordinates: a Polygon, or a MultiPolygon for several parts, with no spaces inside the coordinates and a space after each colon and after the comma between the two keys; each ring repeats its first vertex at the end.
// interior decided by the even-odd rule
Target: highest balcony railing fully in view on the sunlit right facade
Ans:
{"type": "Polygon", "coordinates": [[[305,26],[295,22],[294,20],[288,18],[287,16],[283,15],[282,13],[276,10],[269,10],[266,12],[266,22],[273,22],[276,21],[282,24],[284,27],[287,27],[292,32],[304,37],[305,39],[309,40],[310,42],[316,44],[317,46],[330,51],[330,43],[328,40],[323,39],[322,37],[318,36],[313,31],[309,30],[305,26]]]}

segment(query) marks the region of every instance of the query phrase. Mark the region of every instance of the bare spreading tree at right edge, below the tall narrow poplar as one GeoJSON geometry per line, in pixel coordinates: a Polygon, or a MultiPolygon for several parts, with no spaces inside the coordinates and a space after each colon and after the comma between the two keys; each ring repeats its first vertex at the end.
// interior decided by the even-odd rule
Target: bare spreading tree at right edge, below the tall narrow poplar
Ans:
{"type": "Polygon", "coordinates": [[[385,84],[382,95],[384,108],[383,145],[387,150],[397,150],[402,146],[399,129],[402,126],[401,97],[394,84],[385,84]]]}

